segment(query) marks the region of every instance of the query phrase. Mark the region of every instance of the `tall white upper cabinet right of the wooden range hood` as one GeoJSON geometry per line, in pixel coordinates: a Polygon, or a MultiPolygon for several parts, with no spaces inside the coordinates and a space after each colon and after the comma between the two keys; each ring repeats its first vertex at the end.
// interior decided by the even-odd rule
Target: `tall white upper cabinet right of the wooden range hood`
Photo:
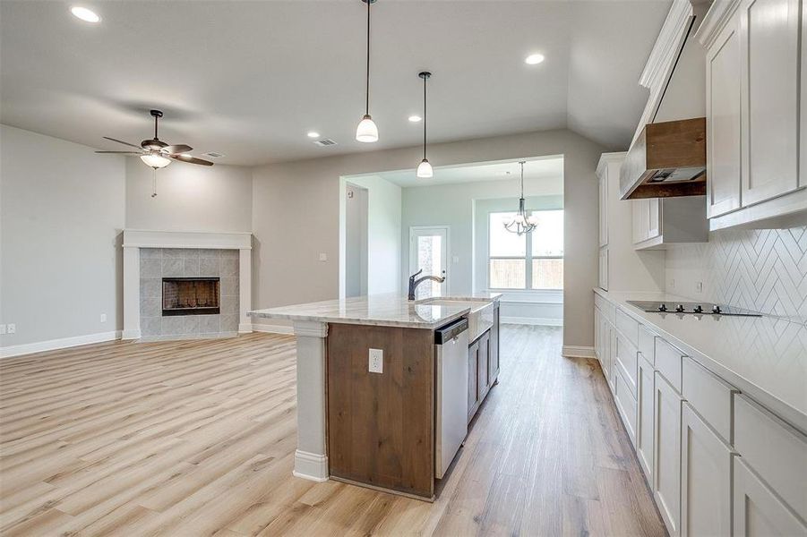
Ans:
{"type": "Polygon", "coordinates": [[[807,222],[804,0],[715,1],[707,49],[707,210],[712,230],[807,222]],[[801,144],[801,146],[800,146],[801,144]],[[801,177],[800,177],[801,174],[801,177]]]}

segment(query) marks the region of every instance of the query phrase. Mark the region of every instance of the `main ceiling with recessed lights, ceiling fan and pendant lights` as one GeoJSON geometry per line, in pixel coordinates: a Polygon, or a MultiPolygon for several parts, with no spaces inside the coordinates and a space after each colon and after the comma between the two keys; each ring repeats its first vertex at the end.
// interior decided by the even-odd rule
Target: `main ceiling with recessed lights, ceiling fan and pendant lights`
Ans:
{"type": "Polygon", "coordinates": [[[0,121],[100,149],[160,138],[255,165],[419,143],[422,81],[431,141],[569,128],[625,148],[647,92],[642,67],[670,0],[379,0],[370,111],[381,140],[353,140],[364,114],[359,0],[0,2],[0,121]],[[523,63],[528,53],[543,64],[523,63]],[[319,148],[309,130],[339,143],[319,148]]]}

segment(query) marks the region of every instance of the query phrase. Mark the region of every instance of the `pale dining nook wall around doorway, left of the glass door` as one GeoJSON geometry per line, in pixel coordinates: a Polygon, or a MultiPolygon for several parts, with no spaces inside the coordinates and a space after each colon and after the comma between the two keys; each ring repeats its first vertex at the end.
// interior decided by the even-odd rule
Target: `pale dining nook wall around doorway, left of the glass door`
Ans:
{"type": "MultiPolygon", "coordinates": [[[[342,179],[363,187],[368,195],[367,294],[393,293],[400,289],[401,188],[378,176],[342,179]]],[[[340,189],[344,197],[345,189],[340,189]]]]}

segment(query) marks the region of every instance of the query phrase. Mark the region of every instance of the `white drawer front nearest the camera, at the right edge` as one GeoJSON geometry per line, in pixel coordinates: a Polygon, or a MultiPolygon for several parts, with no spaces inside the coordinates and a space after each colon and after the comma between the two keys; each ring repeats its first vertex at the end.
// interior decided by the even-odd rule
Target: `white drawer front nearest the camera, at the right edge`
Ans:
{"type": "Polygon", "coordinates": [[[734,447],[798,516],[807,518],[807,439],[803,434],[737,394],[734,447]]]}

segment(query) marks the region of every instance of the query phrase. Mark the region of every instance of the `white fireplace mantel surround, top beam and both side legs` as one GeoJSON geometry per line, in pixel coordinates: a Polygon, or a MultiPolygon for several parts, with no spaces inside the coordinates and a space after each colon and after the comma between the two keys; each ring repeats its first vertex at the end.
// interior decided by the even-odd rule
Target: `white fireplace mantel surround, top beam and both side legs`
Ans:
{"type": "Polygon", "coordinates": [[[141,248],[184,248],[239,251],[238,332],[252,332],[252,237],[251,233],[159,231],[124,229],[124,339],[139,339],[140,250],[141,248]]]}

